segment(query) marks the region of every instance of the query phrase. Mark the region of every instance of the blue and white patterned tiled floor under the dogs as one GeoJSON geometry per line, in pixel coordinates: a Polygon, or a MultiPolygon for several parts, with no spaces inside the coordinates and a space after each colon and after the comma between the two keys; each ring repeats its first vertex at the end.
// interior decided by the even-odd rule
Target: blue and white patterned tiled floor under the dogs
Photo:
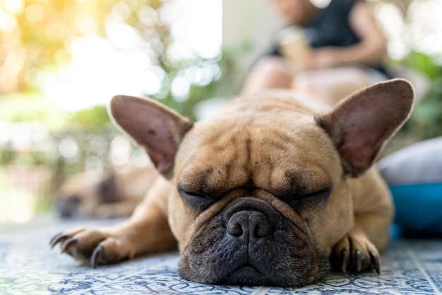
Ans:
{"type": "Polygon", "coordinates": [[[393,240],[379,276],[330,272],[318,284],[284,289],[185,281],[177,275],[177,253],[92,270],[58,249],[49,250],[49,239],[71,226],[0,234],[0,294],[442,294],[441,239],[393,240]]]}

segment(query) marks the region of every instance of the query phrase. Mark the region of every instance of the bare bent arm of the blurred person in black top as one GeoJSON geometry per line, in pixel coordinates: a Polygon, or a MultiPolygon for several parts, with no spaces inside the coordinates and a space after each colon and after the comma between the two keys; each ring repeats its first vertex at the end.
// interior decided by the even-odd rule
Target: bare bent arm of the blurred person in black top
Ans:
{"type": "Polygon", "coordinates": [[[313,50],[307,68],[325,68],[345,64],[378,66],[386,57],[387,42],[378,27],[371,7],[357,1],[350,11],[350,25],[361,41],[348,47],[323,47],[313,50]]]}

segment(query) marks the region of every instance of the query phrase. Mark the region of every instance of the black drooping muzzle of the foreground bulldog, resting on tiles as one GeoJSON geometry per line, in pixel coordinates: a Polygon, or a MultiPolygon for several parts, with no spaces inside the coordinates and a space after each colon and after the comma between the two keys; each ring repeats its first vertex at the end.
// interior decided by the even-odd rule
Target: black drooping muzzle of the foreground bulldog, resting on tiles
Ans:
{"type": "Polygon", "coordinates": [[[179,274],[205,284],[309,284],[323,275],[327,260],[304,226],[263,199],[234,199],[191,238],[179,274]]]}

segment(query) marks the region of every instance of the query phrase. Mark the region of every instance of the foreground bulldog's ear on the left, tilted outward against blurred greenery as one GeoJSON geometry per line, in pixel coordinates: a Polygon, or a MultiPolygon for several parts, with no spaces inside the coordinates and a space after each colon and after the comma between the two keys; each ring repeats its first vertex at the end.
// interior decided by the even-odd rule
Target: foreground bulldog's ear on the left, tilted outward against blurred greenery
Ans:
{"type": "Polygon", "coordinates": [[[174,158],[184,135],[193,122],[155,100],[114,96],[109,115],[147,151],[155,167],[166,178],[172,177],[174,158]]]}

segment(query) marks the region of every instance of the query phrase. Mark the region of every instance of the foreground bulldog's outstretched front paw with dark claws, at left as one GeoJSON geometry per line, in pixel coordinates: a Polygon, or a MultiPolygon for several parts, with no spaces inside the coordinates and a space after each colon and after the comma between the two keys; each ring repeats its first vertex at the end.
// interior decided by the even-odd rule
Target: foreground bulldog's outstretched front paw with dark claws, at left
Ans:
{"type": "Polygon", "coordinates": [[[112,229],[75,228],[57,234],[51,240],[51,248],[60,244],[61,253],[76,260],[90,262],[92,267],[108,265],[133,258],[135,251],[130,243],[112,229]]]}

